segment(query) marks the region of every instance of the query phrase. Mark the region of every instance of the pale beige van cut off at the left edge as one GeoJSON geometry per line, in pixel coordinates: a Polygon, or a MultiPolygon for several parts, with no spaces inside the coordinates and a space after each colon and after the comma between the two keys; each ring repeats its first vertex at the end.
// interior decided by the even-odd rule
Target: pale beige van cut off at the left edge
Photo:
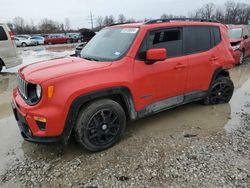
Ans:
{"type": "Polygon", "coordinates": [[[14,42],[14,35],[6,24],[0,23],[0,72],[22,63],[14,42]]]}

